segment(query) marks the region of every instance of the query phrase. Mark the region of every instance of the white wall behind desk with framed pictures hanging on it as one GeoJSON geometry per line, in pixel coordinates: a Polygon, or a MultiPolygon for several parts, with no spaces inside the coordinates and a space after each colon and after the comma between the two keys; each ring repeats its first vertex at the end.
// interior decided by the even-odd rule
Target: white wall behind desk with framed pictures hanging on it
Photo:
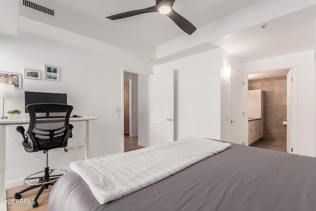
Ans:
{"type": "MultiPolygon", "coordinates": [[[[73,114],[100,118],[90,124],[90,157],[121,152],[121,120],[117,120],[116,113],[117,107],[121,107],[121,66],[143,72],[151,69],[145,63],[120,59],[118,55],[105,55],[26,33],[20,32],[18,37],[0,34],[0,71],[22,74],[22,89],[15,89],[15,99],[7,101],[5,112],[20,109],[22,117],[27,116],[24,91],[67,93],[68,103],[74,106],[73,114]],[[40,70],[44,77],[45,64],[61,68],[60,82],[24,79],[24,68],[40,70]]],[[[76,124],[74,128],[76,138],[81,141],[84,140],[83,126],[76,124]]],[[[11,128],[10,132],[14,133],[15,129],[11,128]]],[[[8,185],[41,170],[44,163],[39,159],[29,162],[31,156],[16,145],[14,138],[7,137],[6,142],[10,144],[6,148],[5,181],[8,185]]],[[[22,141],[18,136],[17,140],[22,141]]],[[[71,145],[73,141],[74,138],[71,145]]],[[[50,167],[67,168],[82,156],[82,150],[71,151],[53,160],[50,167]]]]}

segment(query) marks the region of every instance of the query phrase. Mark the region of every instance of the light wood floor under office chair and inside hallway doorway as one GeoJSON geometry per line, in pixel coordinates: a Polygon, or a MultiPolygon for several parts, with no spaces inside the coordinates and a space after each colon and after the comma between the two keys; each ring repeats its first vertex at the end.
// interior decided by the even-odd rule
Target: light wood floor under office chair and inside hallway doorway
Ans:
{"type": "MultiPolygon", "coordinates": [[[[143,147],[137,145],[138,137],[128,137],[124,136],[124,152],[133,151],[136,149],[141,149],[143,147]]],[[[14,193],[19,192],[23,190],[24,188],[28,187],[28,185],[21,185],[13,188],[9,188],[6,190],[6,199],[7,200],[13,200],[13,204],[7,205],[8,211],[48,211],[48,198],[51,191],[52,186],[50,186],[48,189],[45,189],[42,194],[40,195],[40,198],[38,200],[39,207],[33,208],[32,204],[17,204],[16,199],[14,199],[14,193]]],[[[35,198],[36,194],[38,193],[39,188],[33,189],[31,191],[25,192],[22,194],[22,199],[26,200],[29,199],[30,203],[32,199],[35,198]]]]}

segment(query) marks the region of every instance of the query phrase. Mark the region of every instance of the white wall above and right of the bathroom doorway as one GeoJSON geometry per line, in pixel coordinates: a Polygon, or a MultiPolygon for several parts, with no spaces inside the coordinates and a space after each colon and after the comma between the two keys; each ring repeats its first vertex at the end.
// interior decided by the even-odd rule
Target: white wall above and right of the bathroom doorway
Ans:
{"type": "Polygon", "coordinates": [[[297,100],[295,101],[294,98],[293,102],[296,103],[297,108],[294,111],[294,118],[297,118],[297,127],[293,131],[297,135],[297,146],[293,146],[294,152],[296,151],[299,155],[315,157],[316,76],[314,50],[247,62],[244,70],[245,73],[256,73],[290,67],[294,69],[293,91],[297,93],[297,100]]]}

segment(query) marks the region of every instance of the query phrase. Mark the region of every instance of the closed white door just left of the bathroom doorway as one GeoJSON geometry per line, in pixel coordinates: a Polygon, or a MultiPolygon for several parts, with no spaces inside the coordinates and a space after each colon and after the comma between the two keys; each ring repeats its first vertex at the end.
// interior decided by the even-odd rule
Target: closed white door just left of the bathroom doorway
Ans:
{"type": "Polygon", "coordinates": [[[230,90],[230,134],[229,141],[243,144],[243,74],[232,68],[231,79],[229,82],[230,90]]]}

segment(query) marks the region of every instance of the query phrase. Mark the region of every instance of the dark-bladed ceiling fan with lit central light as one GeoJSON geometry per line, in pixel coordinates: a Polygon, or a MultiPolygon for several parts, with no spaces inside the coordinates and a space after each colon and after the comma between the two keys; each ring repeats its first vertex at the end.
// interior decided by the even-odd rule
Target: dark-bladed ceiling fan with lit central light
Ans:
{"type": "Polygon", "coordinates": [[[187,19],[179,15],[173,10],[172,6],[175,0],[156,0],[156,5],[144,9],[136,9],[128,12],[118,13],[116,15],[111,15],[106,18],[111,20],[117,20],[121,18],[127,18],[134,15],[139,15],[148,12],[160,12],[168,16],[173,22],[175,22],[183,31],[191,35],[197,28],[187,19]]]}

